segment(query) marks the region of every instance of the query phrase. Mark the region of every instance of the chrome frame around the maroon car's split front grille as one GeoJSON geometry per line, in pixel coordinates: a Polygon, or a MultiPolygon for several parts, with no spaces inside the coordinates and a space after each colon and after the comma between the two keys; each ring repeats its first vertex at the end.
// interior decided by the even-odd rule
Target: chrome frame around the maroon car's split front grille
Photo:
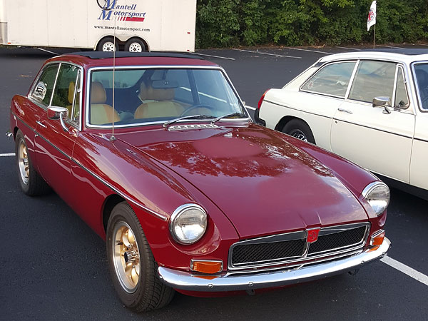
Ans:
{"type": "Polygon", "coordinates": [[[340,248],[333,248],[330,250],[325,250],[322,252],[315,252],[310,254],[308,254],[310,249],[310,243],[306,242],[307,230],[284,233],[279,235],[270,235],[270,236],[265,236],[263,238],[255,238],[251,240],[243,240],[237,243],[233,243],[233,245],[230,246],[229,253],[228,253],[228,270],[244,270],[244,269],[250,269],[255,267],[271,266],[272,264],[282,265],[282,264],[295,263],[295,262],[300,262],[300,264],[302,264],[302,262],[304,262],[305,260],[324,258],[325,256],[330,256],[330,255],[341,255],[343,253],[350,253],[352,251],[362,248],[362,246],[365,245],[370,233],[370,223],[367,223],[367,222],[350,223],[350,224],[344,224],[344,225],[329,226],[327,228],[320,228],[320,233],[318,234],[318,238],[320,238],[320,236],[329,235],[332,233],[339,233],[345,230],[352,230],[354,228],[360,228],[363,226],[365,226],[366,231],[365,231],[364,237],[360,242],[355,244],[350,244],[347,246],[342,246],[340,248]],[[233,249],[238,245],[249,245],[249,244],[259,244],[259,243],[264,244],[264,243],[282,242],[282,241],[289,241],[289,240],[302,240],[303,242],[305,242],[303,253],[300,257],[293,256],[293,257],[287,257],[287,258],[275,258],[272,260],[263,260],[263,261],[256,261],[256,262],[245,262],[245,263],[238,263],[238,264],[232,263],[233,249]]]}

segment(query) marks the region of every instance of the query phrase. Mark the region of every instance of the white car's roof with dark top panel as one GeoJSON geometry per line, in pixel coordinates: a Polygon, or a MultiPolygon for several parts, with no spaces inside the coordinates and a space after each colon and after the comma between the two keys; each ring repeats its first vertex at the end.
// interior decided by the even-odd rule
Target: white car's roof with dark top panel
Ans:
{"type": "Polygon", "coordinates": [[[342,59],[379,59],[402,61],[403,63],[412,63],[414,61],[428,61],[428,49],[368,49],[357,52],[347,52],[341,54],[332,54],[320,59],[320,62],[326,63],[342,59]]]}

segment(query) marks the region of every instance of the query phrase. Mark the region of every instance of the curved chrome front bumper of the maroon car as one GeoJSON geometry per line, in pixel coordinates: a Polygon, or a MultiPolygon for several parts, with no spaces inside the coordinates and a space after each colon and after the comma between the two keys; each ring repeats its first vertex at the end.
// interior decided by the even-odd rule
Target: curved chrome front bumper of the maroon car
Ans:
{"type": "Polygon", "coordinates": [[[168,286],[180,290],[196,292],[223,292],[237,290],[253,290],[265,287],[280,287],[311,280],[319,280],[332,275],[338,275],[360,268],[362,265],[382,258],[391,242],[384,238],[377,250],[366,250],[357,255],[335,260],[303,266],[300,269],[275,270],[270,272],[248,274],[215,275],[213,279],[192,275],[190,272],[159,267],[158,275],[168,286]]]}

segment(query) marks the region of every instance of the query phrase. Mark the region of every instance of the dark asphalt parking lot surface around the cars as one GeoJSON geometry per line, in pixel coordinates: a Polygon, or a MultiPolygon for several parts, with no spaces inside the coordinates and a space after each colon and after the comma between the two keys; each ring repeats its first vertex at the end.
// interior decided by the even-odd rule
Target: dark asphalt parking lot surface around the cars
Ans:
{"type": "MultiPolygon", "coordinates": [[[[428,46],[420,47],[428,51],[428,46]]],[[[253,115],[252,108],[267,88],[284,86],[322,56],[357,50],[227,49],[196,54],[225,68],[253,115]]],[[[9,129],[12,96],[26,94],[41,64],[51,56],[40,49],[0,48],[0,133],[9,129]]],[[[387,259],[357,275],[254,296],[177,294],[163,310],[138,315],[116,297],[103,240],[56,194],[29,198],[21,193],[13,152],[14,142],[1,135],[1,320],[427,320],[426,200],[392,189],[385,226],[392,248],[387,259]]]]}

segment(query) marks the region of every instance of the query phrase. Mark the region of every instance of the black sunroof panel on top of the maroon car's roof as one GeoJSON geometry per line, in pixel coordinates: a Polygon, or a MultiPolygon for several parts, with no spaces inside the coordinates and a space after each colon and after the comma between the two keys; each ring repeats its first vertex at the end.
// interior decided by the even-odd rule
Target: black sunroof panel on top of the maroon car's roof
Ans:
{"type": "MultiPolygon", "coordinates": [[[[91,59],[106,59],[113,58],[113,51],[78,51],[72,52],[68,55],[77,55],[88,57],[91,59]]],[[[116,51],[116,58],[137,58],[137,57],[170,57],[170,58],[191,58],[191,59],[201,59],[204,58],[196,56],[195,54],[177,54],[170,52],[129,52],[129,51],[116,51]]]]}

